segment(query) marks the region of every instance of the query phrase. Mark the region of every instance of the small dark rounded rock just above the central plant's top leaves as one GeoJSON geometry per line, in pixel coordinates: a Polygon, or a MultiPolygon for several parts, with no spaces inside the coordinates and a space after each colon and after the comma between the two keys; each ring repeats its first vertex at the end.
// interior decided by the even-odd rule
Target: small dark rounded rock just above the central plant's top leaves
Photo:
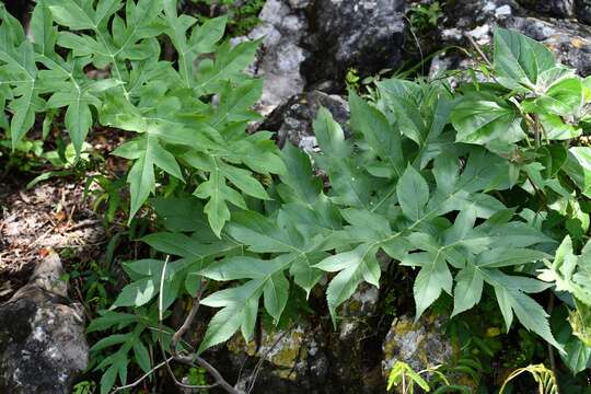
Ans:
{"type": "MultiPolygon", "coordinates": [[[[260,129],[277,131],[277,142],[280,147],[290,141],[305,151],[313,151],[316,139],[312,123],[321,106],[326,107],[340,125],[344,126],[349,121],[349,104],[345,97],[312,91],[292,96],[267,117],[260,129]]],[[[344,130],[349,134],[346,127],[344,130]]]]}

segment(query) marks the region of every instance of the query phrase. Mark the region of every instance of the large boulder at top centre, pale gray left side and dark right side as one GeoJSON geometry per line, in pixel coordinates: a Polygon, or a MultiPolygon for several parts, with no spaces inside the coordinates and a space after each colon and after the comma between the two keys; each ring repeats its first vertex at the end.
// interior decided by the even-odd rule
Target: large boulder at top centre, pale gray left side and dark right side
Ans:
{"type": "Polygon", "coordinates": [[[246,38],[262,39],[255,76],[265,78],[258,112],[323,81],[340,90],[349,68],[361,74],[399,66],[406,36],[404,0],[267,0],[260,24],[246,38]]]}

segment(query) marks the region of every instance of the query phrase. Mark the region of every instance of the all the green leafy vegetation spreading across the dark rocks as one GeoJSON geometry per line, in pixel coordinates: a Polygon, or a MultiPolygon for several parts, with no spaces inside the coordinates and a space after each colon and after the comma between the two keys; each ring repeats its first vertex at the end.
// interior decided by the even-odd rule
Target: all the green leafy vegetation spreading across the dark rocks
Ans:
{"type": "MultiPolygon", "coordinates": [[[[62,124],[70,169],[93,128],[120,130],[112,154],[129,164],[128,223],[154,230],[141,239],[150,255],[123,265],[128,283],[89,326],[102,333],[91,349],[101,393],[128,384],[130,366],[149,374],[161,360],[200,366],[211,374],[193,369],[196,381],[239,392],[206,350],[252,338],[257,318],[296,318],[298,293],[326,282],[337,326],[339,306],[391,269],[413,273],[416,320],[441,299],[452,324],[494,302],[499,334],[534,333],[571,374],[591,366],[591,79],[541,44],[499,28],[494,58],[460,82],[350,90],[351,135],[321,108],[309,155],[247,132],[262,81],[243,70],[258,43],[223,39],[225,16],[197,23],[174,0],[38,0],[28,36],[0,16],[0,127],[12,150],[42,155],[30,130],[62,124]],[[187,326],[199,305],[213,311],[197,345],[183,340],[185,324],[166,326],[187,298],[187,326]],[[568,320],[551,325],[559,312],[568,320]]],[[[558,367],[535,371],[554,384],[558,367]]],[[[427,384],[397,368],[391,384],[404,371],[427,384]]]]}

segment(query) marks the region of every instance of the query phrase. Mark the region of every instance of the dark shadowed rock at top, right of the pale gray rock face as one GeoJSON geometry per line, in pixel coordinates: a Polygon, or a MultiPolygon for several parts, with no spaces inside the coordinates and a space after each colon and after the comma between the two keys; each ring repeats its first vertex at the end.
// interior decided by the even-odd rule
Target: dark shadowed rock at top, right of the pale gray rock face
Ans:
{"type": "Polygon", "coordinates": [[[349,68],[361,74],[396,68],[407,26],[404,0],[316,0],[304,63],[309,82],[344,80],[349,68]]]}

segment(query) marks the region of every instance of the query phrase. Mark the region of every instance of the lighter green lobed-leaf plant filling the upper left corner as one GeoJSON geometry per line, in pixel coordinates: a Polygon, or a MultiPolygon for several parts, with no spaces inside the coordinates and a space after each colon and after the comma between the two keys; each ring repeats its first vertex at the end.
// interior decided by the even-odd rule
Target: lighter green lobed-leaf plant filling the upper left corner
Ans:
{"type": "MultiPolygon", "coordinates": [[[[269,199],[254,172],[279,173],[282,162],[270,134],[245,132],[248,121],[259,118],[250,108],[262,82],[242,70],[258,43],[220,43],[225,18],[197,25],[196,19],[177,15],[173,0],[40,0],[31,39],[3,5],[0,19],[0,126],[12,149],[20,147],[37,113],[48,124],[56,113],[63,115],[77,162],[83,160],[84,139],[94,125],[131,131],[136,137],[128,136],[113,152],[131,163],[126,176],[129,220],[150,194],[169,184],[166,193],[190,190],[206,202],[196,216],[207,213],[213,237],[230,219],[229,204],[245,209],[246,196],[269,199]],[[177,50],[174,62],[161,59],[159,39],[164,36],[177,50]],[[89,70],[107,72],[97,78],[101,73],[89,70]]],[[[137,327],[130,338],[139,338],[147,326],[137,327]]],[[[121,337],[108,338],[113,345],[121,337]]],[[[125,382],[126,347],[134,340],[99,364],[106,370],[103,393],[117,375],[125,382]]],[[[149,364],[144,351],[136,356],[140,367],[149,364]]]]}

